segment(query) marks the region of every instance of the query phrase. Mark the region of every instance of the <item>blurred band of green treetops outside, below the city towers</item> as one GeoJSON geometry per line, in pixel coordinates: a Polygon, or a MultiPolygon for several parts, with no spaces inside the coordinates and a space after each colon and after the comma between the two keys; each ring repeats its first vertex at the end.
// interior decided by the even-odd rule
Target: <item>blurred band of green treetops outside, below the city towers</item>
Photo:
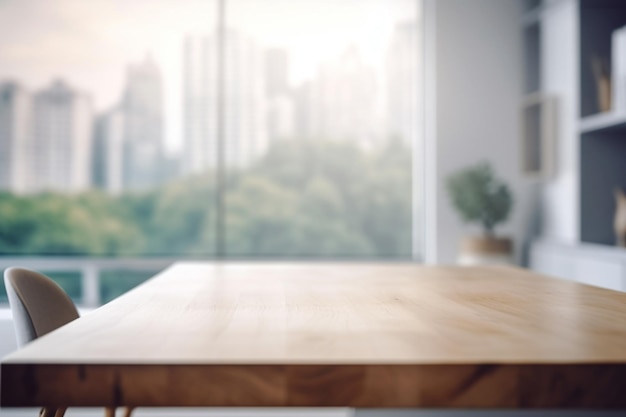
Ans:
{"type": "MultiPolygon", "coordinates": [[[[223,187],[232,256],[408,256],[411,153],[398,141],[276,143],[223,187]]],[[[216,184],[206,172],[119,196],[0,193],[0,253],[211,255],[216,184]]]]}

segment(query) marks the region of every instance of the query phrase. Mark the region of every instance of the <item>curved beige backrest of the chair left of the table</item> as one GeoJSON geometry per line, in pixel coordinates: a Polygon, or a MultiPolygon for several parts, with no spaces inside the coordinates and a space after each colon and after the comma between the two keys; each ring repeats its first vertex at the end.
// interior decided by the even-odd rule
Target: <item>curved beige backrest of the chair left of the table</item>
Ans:
{"type": "Polygon", "coordinates": [[[19,347],[78,318],[63,289],[47,276],[24,268],[4,271],[19,347]]]}

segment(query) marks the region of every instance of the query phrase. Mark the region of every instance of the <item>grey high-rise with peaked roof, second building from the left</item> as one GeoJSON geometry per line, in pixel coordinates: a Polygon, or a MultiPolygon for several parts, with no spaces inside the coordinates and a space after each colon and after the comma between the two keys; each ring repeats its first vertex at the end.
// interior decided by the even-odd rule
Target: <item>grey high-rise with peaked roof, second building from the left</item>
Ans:
{"type": "Polygon", "coordinates": [[[32,137],[25,146],[25,190],[80,191],[91,182],[89,96],[55,81],[33,99],[32,137]]]}

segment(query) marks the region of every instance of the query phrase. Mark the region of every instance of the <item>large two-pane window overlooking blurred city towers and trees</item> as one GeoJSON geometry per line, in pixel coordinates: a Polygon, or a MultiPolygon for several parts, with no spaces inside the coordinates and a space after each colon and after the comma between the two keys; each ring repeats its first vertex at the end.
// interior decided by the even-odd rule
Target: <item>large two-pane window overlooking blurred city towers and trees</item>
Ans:
{"type": "Polygon", "coordinates": [[[421,253],[418,0],[0,2],[0,255],[421,253]]]}

